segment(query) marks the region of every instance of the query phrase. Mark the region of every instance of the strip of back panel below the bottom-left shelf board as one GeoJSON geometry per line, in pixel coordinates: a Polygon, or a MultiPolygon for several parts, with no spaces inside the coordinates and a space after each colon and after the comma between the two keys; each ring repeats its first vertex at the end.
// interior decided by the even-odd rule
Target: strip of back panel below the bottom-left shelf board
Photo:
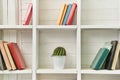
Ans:
{"type": "Polygon", "coordinates": [[[5,74],[0,75],[0,80],[32,80],[30,74],[5,74]]]}

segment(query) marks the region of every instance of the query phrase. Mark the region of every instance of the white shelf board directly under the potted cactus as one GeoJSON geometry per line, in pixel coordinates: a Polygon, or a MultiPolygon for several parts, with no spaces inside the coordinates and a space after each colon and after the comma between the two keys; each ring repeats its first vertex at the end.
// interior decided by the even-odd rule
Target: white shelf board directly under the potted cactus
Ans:
{"type": "Polygon", "coordinates": [[[76,74],[76,69],[62,69],[62,70],[55,70],[55,69],[38,69],[37,74],[76,74]]]}

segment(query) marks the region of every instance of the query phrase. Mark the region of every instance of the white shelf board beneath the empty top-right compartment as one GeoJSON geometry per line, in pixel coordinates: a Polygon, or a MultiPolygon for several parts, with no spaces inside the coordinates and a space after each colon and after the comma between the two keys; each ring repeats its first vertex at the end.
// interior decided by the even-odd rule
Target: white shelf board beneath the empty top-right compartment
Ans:
{"type": "Polygon", "coordinates": [[[118,25],[81,25],[81,29],[120,29],[118,25]]]}

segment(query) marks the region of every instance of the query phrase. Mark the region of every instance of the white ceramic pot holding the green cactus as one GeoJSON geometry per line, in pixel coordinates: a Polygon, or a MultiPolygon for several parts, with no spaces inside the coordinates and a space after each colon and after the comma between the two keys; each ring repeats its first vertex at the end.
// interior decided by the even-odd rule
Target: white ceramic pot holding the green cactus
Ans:
{"type": "Polygon", "coordinates": [[[65,56],[53,56],[54,69],[64,69],[65,56]]]}

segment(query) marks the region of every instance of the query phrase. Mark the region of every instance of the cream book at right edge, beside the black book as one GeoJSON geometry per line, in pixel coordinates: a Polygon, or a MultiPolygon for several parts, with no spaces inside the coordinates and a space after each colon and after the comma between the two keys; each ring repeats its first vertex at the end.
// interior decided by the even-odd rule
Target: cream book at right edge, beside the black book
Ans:
{"type": "Polygon", "coordinates": [[[113,58],[112,66],[111,66],[112,70],[115,70],[115,68],[116,68],[119,53],[120,53],[120,43],[117,44],[117,47],[116,47],[116,50],[115,50],[115,54],[114,54],[114,58],[113,58]]]}

